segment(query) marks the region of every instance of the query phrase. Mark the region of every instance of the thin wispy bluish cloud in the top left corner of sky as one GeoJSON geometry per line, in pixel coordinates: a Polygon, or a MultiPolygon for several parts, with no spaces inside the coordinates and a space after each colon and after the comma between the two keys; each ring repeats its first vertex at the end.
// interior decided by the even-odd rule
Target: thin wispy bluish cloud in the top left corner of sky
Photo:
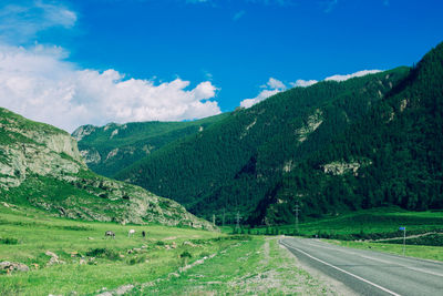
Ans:
{"type": "Polygon", "coordinates": [[[0,4],[0,39],[19,44],[53,27],[72,28],[76,13],[64,6],[43,0],[24,0],[21,4],[0,4]]]}

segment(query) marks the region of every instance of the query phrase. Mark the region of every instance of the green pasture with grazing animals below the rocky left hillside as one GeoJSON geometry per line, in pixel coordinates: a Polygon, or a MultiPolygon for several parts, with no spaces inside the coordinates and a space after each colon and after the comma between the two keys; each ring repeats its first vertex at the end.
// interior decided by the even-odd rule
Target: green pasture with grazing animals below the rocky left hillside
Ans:
{"type": "Polygon", "coordinates": [[[103,287],[147,282],[176,271],[187,261],[236,243],[224,237],[219,233],[190,228],[69,221],[49,217],[32,208],[10,210],[0,205],[0,262],[23,263],[30,267],[28,273],[2,272],[0,295],[69,295],[71,292],[82,295],[103,287]],[[131,238],[127,237],[130,228],[136,231],[131,238]],[[145,239],[142,229],[147,232],[145,239]],[[106,231],[115,232],[115,239],[105,238],[106,231]],[[64,264],[49,265],[48,251],[64,264]],[[182,258],[185,252],[190,257],[182,258]]]}

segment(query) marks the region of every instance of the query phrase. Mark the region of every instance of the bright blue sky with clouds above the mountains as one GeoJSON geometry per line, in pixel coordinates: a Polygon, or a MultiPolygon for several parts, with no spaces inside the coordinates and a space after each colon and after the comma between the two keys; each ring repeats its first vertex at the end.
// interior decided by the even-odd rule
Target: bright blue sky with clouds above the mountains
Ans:
{"type": "MultiPolygon", "coordinates": [[[[442,14],[443,2],[436,0],[3,0],[0,45],[10,59],[0,59],[0,68],[42,55],[56,64],[48,73],[64,79],[50,75],[23,92],[1,88],[0,74],[0,104],[66,130],[106,121],[202,118],[231,111],[245,99],[285,90],[297,80],[411,65],[443,41],[442,14]],[[86,114],[84,109],[97,108],[116,91],[100,94],[84,81],[106,78],[119,91],[131,89],[127,105],[135,108],[125,108],[122,92],[109,101],[116,109],[86,114]],[[62,89],[66,80],[75,83],[62,89]],[[64,99],[70,105],[60,105],[60,112],[75,116],[63,124],[65,115],[51,119],[50,111],[35,111],[39,102],[34,109],[22,102],[25,94],[45,102],[38,85],[62,96],[71,90],[64,99]],[[172,104],[181,108],[166,112],[172,108],[164,103],[156,109],[152,101],[168,100],[162,96],[171,90],[172,104]],[[146,92],[155,94],[137,99],[146,92]],[[21,103],[3,98],[10,93],[19,93],[21,103]]],[[[30,79],[27,73],[32,72],[49,75],[25,69],[19,76],[30,79]]],[[[106,83],[99,84],[105,89],[106,83]]]]}

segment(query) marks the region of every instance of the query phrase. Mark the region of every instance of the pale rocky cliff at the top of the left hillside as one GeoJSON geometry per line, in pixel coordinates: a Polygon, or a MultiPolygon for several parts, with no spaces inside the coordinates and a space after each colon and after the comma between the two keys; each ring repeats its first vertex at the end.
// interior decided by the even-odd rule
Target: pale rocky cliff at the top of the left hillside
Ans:
{"type": "Polygon", "coordinates": [[[0,187],[20,186],[29,174],[72,181],[86,165],[70,134],[0,109],[0,187]]]}

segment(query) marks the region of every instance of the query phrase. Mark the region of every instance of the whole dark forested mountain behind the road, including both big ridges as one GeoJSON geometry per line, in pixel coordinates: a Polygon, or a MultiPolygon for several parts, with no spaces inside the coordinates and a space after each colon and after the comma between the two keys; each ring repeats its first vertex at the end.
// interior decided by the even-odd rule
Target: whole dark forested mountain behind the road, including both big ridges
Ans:
{"type": "Polygon", "coordinates": [[[157,133],[164,145],[115,165],[113,176],[219,223],[237,212],[250,224],[291,223],[297,204],[301,218],[384,205],[440,208],[442,48],[412,68],[293,88],[183,136],[157,133]]]}

